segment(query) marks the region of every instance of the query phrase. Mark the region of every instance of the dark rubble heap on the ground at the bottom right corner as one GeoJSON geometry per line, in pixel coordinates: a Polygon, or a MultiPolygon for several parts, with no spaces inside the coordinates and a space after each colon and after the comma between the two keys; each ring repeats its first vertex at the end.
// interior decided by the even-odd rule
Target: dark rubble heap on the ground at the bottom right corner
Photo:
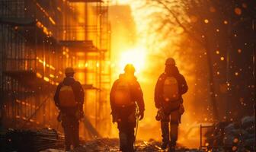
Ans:
{"type": "Polygon", "coordinates": [[[209,150],[255,151],[255,117],[245,116],[239,122],[218,122],[206,131],[209,150]]]}

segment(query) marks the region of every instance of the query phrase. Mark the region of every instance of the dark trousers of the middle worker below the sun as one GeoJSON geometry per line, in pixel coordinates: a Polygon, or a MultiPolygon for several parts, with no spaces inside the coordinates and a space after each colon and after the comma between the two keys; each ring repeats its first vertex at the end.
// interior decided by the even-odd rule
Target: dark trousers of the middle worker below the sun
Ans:
{"type": "Polygon", "coordinates": [[[134,128],[136,127],[135,108],[133,106],[118,110],[117,128],[119,130],[120,150],[133,152],[135,141],[134,128]]]}

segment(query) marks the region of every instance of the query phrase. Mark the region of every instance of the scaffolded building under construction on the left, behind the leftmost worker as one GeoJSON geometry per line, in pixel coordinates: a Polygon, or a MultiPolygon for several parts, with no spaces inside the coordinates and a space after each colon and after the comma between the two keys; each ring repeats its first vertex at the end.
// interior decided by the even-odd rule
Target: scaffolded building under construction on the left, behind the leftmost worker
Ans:
{"type": "Polygon", "coordinates": [[[110,131],[110,24],[101,0],[0,0],[0,107],[5,128],[55,128],[66,67],[85,90],[85,138],[110,131]]]}

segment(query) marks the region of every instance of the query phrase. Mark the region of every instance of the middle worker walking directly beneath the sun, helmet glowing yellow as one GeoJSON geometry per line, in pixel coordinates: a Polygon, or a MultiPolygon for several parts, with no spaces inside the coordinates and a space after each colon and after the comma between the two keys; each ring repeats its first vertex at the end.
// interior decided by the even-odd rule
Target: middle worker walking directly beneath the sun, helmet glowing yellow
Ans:
{"type": "Polygon", "coordinates": [[[136,104],[139,107],[139,120],[144,116],[143,93],[139,82],[134,76],[135,68],[128,64],[124,74],[114,81],[110,91],[110,106],[113,122],[117,122],[120,138],[120,150],[133,152],[135,141],[134,128],[136,127],[136,104]]]}

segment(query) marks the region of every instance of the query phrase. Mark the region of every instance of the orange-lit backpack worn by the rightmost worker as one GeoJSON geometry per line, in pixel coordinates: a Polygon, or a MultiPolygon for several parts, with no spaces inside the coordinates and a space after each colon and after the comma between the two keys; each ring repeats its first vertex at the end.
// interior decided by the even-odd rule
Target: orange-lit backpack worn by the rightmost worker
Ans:
{"type": "Polygon", "coordinates": [[[167,77],[164,82],[163,98],[166,102],[179,99],[178,81],[174,77],[167,77]]]}

